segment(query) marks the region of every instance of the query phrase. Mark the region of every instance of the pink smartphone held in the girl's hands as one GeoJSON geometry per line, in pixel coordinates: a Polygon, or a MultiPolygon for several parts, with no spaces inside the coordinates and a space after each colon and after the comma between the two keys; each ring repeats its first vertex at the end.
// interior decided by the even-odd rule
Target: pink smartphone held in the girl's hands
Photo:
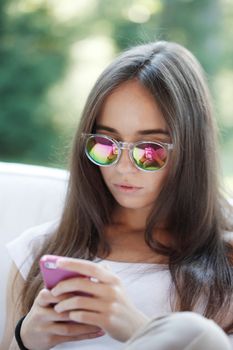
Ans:
{"type": "MultiPolygon", "coordinates": [[[[47,289],[52,289],[58,282],[69,278],[89,278],[88,276],[82,275],[78,272],[64,270],[57,267],[56,262],[59,258],[61,257],[57,255],[43,255],[40,259],[40,270],[44,280],[44,285],[47,289]]],[[[87,293],[82,292],[78,292],[78,294],[87,295],[87,293]]]]}

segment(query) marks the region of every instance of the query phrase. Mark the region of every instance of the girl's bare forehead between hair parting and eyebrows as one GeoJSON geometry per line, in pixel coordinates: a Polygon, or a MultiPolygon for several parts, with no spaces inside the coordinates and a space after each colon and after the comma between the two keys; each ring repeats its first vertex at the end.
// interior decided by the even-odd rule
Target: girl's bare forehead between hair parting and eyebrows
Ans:
{"type": "Polygon", "coordinates": [[[167,130],[154,96],[136,80],[123,83],[106,98],[98,125],[113,128],[122,135],[148,129],[167,130]]]}

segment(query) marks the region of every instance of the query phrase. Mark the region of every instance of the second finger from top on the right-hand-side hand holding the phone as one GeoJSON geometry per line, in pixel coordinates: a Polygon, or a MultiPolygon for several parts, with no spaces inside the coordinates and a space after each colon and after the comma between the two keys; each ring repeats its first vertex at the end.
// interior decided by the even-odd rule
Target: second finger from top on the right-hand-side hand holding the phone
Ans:
{"type": "Polygon", "coordinates": [[[59,282],[56,287],[51,290],[51,293],[54,296],[58,296],[68,292],[82,292],[89,295],[89,298],[95,296],[96,298],[111,300],[118,295],[120,290],[121,288],[118,285],[101,284],[86,278],[72,278],[59,282]]]}

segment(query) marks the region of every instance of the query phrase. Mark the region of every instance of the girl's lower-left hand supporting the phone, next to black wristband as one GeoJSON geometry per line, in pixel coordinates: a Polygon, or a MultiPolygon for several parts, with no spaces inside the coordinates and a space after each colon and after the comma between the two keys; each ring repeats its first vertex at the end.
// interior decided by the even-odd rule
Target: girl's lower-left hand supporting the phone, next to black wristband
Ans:
{"type": "Polygon", "coordinates": [[[70,294],[53,296],[47,289],[38,294],[21,327],[21,339],[28,349],[47,350],[57,344],[96,338],[104,333],[99,327],[70,322],[69,313],[57,313],[54,304],[70,294]]]}

